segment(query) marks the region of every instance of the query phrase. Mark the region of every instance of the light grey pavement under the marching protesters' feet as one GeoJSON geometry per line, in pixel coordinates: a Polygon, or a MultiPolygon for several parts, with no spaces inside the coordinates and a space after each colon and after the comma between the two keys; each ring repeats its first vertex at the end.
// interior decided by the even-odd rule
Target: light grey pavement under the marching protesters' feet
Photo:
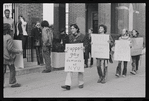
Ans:
{"type": "Polygon", "coordinates": [[[17,76],[17,81],[22,84],[19,88],[11,88],[8,85],[9,78],[5,79],[3,90],[4,98],[9,97],[30,97],[30,98],[57,98],[57,97],[145,97],[146,96],[146,61],[142,57],[141,66],[137,75],[130,74],[131,62],[128,63],[127,76],[115,77],[117,62],[108,66],[108,77],[105,84],[97,83],[98,74],[96,59],[92,68],[85,68],[84,88],[78,88],[78,73],[73,73],[72,86],[70,91],[61,88],[64,85],[66,73],[52,71],[51,73],[30,73],[17,76]]]}

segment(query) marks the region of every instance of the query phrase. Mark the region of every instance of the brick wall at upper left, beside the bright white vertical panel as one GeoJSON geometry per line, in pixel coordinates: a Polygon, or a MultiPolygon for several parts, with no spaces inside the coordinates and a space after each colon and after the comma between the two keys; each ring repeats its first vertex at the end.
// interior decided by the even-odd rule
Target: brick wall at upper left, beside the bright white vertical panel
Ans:
{"type": "Polygon", "coordinates": [[[30,35],[32,23],[36,20],[42,21],[43,19],[43,4],[42,3],[16,3],[18,7],[18,14],[23,15],[28,22],[28,34],[30,35]]]}

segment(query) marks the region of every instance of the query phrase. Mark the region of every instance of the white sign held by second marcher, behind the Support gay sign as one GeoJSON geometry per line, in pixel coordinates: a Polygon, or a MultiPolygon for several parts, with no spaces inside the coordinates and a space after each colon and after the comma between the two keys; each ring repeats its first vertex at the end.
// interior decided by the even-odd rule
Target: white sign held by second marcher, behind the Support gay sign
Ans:
{"type": "Polygon", "coordinates": [[[92,57],[109,59],[109,35],[91,34],[92,57]]]}

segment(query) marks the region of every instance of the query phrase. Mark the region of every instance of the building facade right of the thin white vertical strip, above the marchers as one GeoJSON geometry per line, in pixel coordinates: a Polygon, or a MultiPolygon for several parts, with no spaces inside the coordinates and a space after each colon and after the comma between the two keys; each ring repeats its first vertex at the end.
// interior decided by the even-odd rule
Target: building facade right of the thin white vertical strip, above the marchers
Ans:
{"type": "Polygon", "coordinates": [[[100,24],[105,24],[110,34],[120,34],[123,28],[136,29],[145,39],[145,13],[145,3],[70,3],[69,25],[77,23],[83,34],[89,28],[97,33],[100,24]]]}

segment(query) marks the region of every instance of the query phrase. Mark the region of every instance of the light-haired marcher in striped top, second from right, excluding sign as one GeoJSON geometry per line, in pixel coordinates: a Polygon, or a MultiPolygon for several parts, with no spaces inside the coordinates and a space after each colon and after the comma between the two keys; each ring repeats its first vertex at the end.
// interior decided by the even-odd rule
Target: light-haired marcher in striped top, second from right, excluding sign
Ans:
{"type": "MultiPolygon", "coordinates": [[[[130,35],[126,29],[122,30],[122,34],[121,34],[121,37],[119,37],[119,40],[128,40],[131,42],[130,35]]],[[[122,76],[126,77],[128,62],[127,61],[123,61],[123,62],[124,62],[124,68],[123,68],[122,76]]],[[[116,75],[115,75],[117,77],[119,77],[121,75],[121,64],[122,64],[122,61],[118,61],[118,66],[117,66],[116,75]]]]}

